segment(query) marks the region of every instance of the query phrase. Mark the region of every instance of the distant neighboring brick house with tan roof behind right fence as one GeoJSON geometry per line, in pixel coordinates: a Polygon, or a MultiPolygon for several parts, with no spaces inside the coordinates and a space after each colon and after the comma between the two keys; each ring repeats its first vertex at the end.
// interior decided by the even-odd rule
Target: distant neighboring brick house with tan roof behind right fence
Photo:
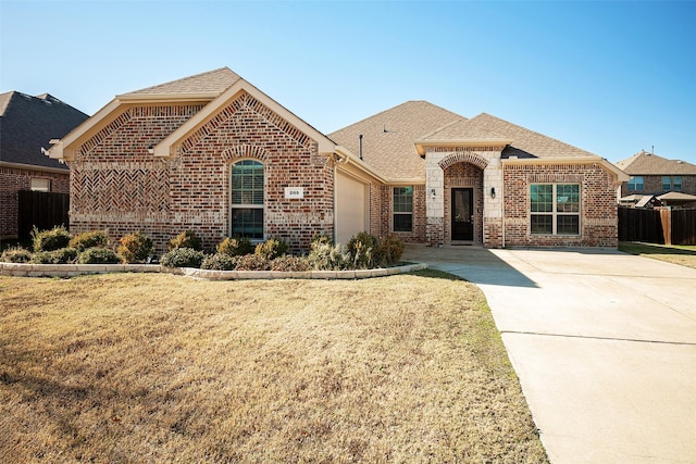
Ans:
{"type": "Polygon", "coordinates": [[[639,151],[617,163],[630,177],[621,185],[620,198],[631,195],[661,196],[670,191],[696,195],[696,165],[639,151]]]}

